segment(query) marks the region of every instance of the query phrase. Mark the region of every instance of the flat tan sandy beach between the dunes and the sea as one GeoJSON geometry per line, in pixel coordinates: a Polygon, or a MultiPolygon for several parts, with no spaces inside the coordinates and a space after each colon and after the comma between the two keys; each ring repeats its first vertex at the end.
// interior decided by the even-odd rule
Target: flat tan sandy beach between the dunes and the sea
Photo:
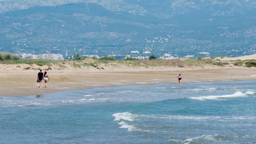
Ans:
{"type": "Polygon", "coordinates": [[[182,74],[183,83],[210,81],[240,81],[256,80],[256,69],[238,66],[209,67],[167,67],[159,68],[129,68],[105,67],[99,70],[94,67],[74,68],[66,66],[60,69],[51,66],[48,70],[50,83],[47,88],[38,87],[38,69],[47,69],[32,65],[1,64],[0,96],[42,95],[57,91],[88,89],[93,87],[111,87],[118,85],[151,85],[156,83],[177,83],[177,76],[182,74]]]}

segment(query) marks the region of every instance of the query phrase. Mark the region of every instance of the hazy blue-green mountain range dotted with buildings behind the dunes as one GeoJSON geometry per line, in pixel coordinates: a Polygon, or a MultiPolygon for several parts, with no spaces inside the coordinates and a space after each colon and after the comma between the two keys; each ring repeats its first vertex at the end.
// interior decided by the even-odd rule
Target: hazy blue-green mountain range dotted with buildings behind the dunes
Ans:
{"type": "Polygon", "coordinates": [[[255,23],[251,0],[9,0],[0,51],[241,56],[256,51],[255,23]]]}

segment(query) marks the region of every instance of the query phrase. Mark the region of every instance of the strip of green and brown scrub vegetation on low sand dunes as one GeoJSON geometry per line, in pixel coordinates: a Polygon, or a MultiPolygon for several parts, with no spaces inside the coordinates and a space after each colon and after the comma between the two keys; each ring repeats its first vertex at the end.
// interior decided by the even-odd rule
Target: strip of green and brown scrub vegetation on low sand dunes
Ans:
{"type": "Polygon", "coordinates": [[[0,63],[1,64],[36,64],[39,66],[52,65],[52,64],[66,64],[69,63],[73,67],[98,67],[100,65],[111,65],[111,66],[128,66],[128,67],[204,67],[204,66],[244,66],[244,67],[256,67],[256,60],[234,60],[234,61],[220,61],[216,57],[202,58],[198,57],[196,59],[186,58],[186,59],[144,59],[139,60],[137,58],[126,58],[122,60],[117,60],[113,57],[103,57],[100,59],[81,57],[79,54],[74,56],[70,60],[50,60],[50,59],[23,59],[16,55],[9,53],[0,53],[0,63]]]}

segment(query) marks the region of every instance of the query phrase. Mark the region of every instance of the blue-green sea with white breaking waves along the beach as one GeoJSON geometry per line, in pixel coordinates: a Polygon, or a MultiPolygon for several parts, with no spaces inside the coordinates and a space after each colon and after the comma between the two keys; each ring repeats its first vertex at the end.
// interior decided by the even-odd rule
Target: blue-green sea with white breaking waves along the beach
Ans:
{"type": "Polygon", "coordinates": [[[256,81],[0,97],[0,143],[255,144],[256,81]]]}

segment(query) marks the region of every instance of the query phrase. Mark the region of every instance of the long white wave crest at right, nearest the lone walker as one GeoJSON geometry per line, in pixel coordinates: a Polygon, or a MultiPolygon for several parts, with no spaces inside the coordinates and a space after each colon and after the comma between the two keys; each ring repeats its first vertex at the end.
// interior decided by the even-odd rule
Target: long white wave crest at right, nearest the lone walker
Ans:
{"type": "Polygon", "coordinates": [[[242,93],[240,91],[235,92],[234,94],[230,94],[230,95],[217,95],[217,96],[201,96],[201,97],[191,97],[190,99],[194,99],[194,100],[225,100],[225,99],[229,99],[229,98],[237,98],[237,97],[246,97],[248,95],[252,95],[255,92],[246,92],[246,93],[242,93]]]}

